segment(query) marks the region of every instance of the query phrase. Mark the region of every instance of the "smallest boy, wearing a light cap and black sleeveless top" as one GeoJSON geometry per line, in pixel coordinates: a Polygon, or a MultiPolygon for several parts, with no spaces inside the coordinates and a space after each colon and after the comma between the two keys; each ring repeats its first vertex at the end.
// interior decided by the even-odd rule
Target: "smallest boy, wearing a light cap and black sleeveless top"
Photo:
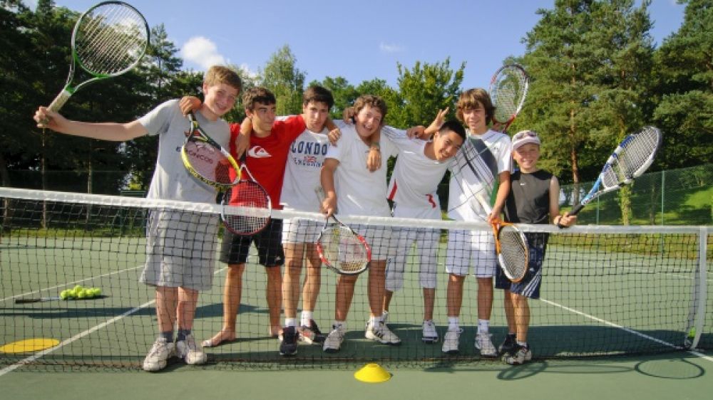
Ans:
{"type": "MultiPolygon", "coordinates": [[[[531,130],[513,135],[513,159],[519,170],[510,177],[512,188],[505,204],[505,219],[514,223],[554,223],[573,226],[577,216],[560,214],[560,183],[553,174],[538,167],[540,138],[531,130]]],[[[532,359],[528,345],[530,307],[528,298],[540,298],[542,263],[547,248],[547,233],[525,233],[528,238],[530,263],[523,280],[513,283],[501,268],[496,273],[496,288],[505,290],[505,315],[508,336],[500,346],[508,364],[523,364],[532,359]]]]}

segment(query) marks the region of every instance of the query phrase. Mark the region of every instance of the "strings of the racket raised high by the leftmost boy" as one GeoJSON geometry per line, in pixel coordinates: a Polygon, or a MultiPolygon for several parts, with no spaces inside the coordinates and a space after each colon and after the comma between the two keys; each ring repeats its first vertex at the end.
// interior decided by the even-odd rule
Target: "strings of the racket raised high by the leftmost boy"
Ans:
{"type": "Polygon", "coordinates": [[[148,44],[143,17],[125,6],[101,6],[83,16],[75,38],[82,65],[93,73],[119,73],[136,63],[148,44]]]}

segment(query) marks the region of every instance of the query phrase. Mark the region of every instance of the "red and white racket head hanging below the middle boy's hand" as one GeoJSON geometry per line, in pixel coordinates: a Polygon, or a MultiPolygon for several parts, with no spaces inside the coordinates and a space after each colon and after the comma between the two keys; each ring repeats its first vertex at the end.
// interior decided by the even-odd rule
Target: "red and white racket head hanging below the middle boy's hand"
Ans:
{"type": "Polygon", "coordinates": [[[369,267],[371,248],[366,239],[332,216],[336,223],[324,223],[317,238],[322,263],[341,275],[359,275],[369,267]]]}

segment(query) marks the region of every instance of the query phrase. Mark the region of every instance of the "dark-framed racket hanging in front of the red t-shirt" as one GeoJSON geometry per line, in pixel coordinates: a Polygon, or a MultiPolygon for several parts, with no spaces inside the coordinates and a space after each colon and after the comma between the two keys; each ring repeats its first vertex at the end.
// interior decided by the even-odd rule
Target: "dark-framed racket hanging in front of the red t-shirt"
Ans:
{"type": "Polygon", "coordinates": [[[245,174],[240,175],[242,177],[247,175],[249,179],[240,179],[235,186],[225,191],[220,218],[228,231],[236,235],[249,236],[262,231],[270,223],[272,201],[265,188],[257,183],[245,164],[242,164],[241,169],[245,174]],[[240,207],[240,210],[237,210],[239,214],[228,214],[228,206],[240,207]]]}

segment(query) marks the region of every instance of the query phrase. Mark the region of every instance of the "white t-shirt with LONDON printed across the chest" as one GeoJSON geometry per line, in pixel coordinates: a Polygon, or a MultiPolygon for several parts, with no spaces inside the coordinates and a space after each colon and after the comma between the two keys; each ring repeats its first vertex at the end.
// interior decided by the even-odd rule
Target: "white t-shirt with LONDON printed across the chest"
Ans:
{"type": "Polygon", "coordinates": [[[319,174],[329,149],[328,132],[326,127],[319,133],[304,130],[289,147],[280,197],[288,209],[319,212],[314,189],[321,186],[319,174]]]}

